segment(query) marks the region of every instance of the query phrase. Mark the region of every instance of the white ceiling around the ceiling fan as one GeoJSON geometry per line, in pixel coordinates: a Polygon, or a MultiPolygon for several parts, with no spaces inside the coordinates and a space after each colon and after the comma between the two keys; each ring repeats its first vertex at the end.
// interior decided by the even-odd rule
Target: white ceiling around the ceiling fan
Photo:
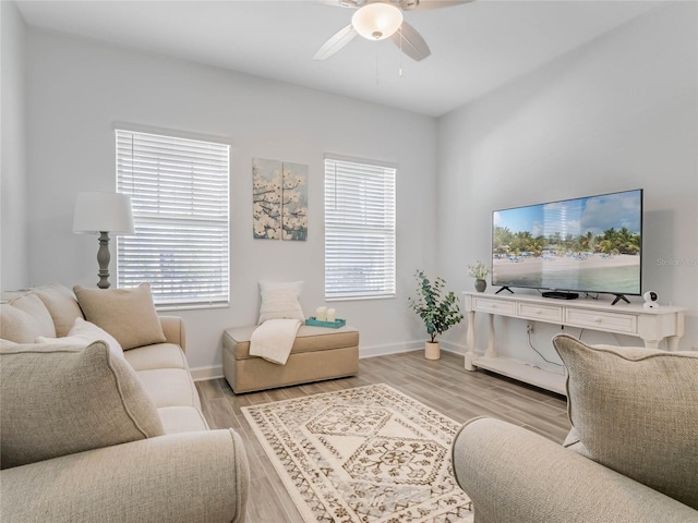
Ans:
{"type": "Polygon", "coordinates": [[[390,40],[361,37],[313,60],[353,13],[332,0],[16,3],[29,25],[437,117],[662,1],[477,0],[409,11],[432,50],[421,62],[390,40]]]}

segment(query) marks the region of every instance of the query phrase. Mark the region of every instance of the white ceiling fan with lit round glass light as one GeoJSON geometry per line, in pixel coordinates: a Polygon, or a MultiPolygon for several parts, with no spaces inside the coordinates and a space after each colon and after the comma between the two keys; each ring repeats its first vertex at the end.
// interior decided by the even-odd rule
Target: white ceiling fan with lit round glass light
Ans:
{"type": "Polygon", "coordinates": [[[357,35],[369,40],[390,38],[408,57],[420,61],[431,50],[414,27],[405,22],[402,12],[414,9],[447,8],[472,0],[334,0],[334,4],[357,11],[351,23],[329,37],[317,49],[314,60],[326,60],[349,44],[357,35]]]}

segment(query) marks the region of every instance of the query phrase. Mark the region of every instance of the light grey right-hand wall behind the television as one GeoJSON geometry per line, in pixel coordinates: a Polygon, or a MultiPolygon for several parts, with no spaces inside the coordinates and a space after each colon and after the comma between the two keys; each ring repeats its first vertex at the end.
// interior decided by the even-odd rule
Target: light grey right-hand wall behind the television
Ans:
{"type": "MultiPolygon", "coordinates": [[[[440,120],[447,280],[472,290],[467,265],[491,258],[494,209],[643,187],[643,290],[688,307],[679,348],[698,349],[697,9],[650,12],[440,120]]],[[[497,321],[504,354],[549,367],[528,350],[522,321],[497,321]]],[[[557,329],[535,331],[534,345],[552,360],[557,329]]],[[[449,339],[462,345],[464,332],[459,326],[449,339]]],[[[583,339],[638,343],[592,331],[583,339]]]]}

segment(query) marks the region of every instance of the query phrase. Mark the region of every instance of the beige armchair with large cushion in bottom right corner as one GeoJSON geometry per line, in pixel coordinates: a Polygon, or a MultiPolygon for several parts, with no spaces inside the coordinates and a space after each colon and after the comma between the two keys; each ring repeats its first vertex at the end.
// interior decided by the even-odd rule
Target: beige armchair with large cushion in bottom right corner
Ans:
{"type": "Polygon", "coordinates": [[[698,521],[698,353],[553,340],[569,373],[563,446],[491,418],[453,443],[474,521],[698,521]]]}

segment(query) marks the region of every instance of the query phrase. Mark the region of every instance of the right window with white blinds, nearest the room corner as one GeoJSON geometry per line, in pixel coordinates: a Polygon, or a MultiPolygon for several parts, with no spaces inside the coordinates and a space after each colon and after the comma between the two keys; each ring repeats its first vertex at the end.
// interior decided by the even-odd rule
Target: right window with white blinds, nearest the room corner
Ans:
{"type": "Polygon", "coordinates": [[[325,299],[395,295],[395,175],[325,159],[325,299]]]}

